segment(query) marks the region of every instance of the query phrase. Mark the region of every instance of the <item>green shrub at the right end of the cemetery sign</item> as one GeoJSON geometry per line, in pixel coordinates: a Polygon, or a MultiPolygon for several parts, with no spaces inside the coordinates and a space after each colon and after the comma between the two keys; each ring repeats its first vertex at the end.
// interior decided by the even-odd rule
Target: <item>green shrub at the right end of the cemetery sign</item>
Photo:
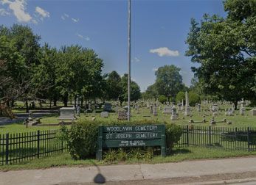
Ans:
{"type": "Polygon", "coordinates": [[[182,129],[181,126],[175,124],[168,123],[165,125],[166,148],[168,153],[173,149],[174,144],[179,142],[183,133],[182,129]]]}

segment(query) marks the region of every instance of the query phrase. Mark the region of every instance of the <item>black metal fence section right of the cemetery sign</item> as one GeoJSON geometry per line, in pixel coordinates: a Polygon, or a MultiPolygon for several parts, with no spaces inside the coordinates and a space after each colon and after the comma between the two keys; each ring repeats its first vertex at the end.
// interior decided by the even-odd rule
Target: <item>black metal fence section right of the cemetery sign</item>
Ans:
{"type": "Polygon", "coordinates": [[[178,145],[252,151],[256,150],[256,128],[183,126],[178,145]]]}

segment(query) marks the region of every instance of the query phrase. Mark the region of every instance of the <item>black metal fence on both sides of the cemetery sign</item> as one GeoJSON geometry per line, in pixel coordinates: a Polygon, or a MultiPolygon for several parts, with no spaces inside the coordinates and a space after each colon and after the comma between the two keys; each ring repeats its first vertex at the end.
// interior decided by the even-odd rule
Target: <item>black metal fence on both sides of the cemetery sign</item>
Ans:
{"type": "MultiPolygon", "coordinates": [[[[0,165],[17,164],[66,150],[60,130],[0,134],[0,165]]],[[[256,128],[183,126],[181,147],[199,146],[226,150],[256,150],[256,128]]]]}

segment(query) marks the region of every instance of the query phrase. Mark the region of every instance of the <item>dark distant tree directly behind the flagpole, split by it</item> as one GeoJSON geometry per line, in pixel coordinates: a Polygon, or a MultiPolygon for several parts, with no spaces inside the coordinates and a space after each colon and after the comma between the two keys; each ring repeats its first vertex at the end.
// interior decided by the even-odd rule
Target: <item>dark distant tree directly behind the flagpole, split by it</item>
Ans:
{"type": "MultiPolygon", "coordinates": [[[[128,74],[122,76],[120,86],[122,87],[122,94],[120,95],[119,100],[122,105],[123,101],[128,101],[128,74]]],[[[130,88],[131,101],[137,101],[141,97],[139,85],[136,84],[135,81],[131,81],[130,88]]]]}

